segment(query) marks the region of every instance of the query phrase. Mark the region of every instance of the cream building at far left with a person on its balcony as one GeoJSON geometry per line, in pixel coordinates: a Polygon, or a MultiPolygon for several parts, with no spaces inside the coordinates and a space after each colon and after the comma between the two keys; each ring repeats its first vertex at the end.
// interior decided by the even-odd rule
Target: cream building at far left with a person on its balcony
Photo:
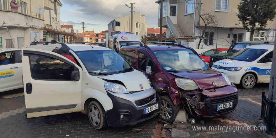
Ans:
{"type": "Polygon", "coordinates": [[[0,48],[22,48],[43,40],[44,15],[34,13],[35,7],[43,6],[43,0],[17,1],[18,12],[10,11],[10,2],[0,0],[0,48]]]}

